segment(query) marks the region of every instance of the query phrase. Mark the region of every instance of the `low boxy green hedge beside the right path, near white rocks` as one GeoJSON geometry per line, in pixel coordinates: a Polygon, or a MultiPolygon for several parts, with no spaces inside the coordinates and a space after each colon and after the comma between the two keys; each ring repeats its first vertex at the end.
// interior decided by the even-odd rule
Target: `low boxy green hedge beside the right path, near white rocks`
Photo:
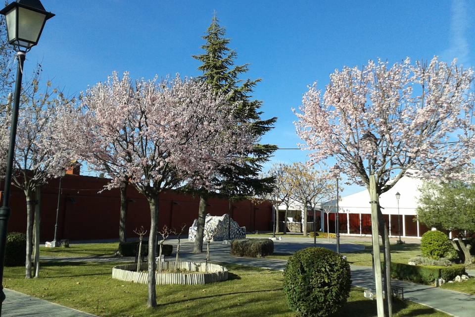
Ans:
{"type": "Polygon", "coordinates": [[[464,265],[428,266],[391,263],[391,277],[421,284],[431,284],[439,277],[446,281],[452,280],[464,273],[464,265]]]}

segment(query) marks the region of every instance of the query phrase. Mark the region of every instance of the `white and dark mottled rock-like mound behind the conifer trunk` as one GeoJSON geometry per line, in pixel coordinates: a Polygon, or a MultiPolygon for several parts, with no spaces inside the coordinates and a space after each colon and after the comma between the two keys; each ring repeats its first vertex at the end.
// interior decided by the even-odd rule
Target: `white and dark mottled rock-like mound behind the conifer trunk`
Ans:
{"type": "MultiPolygon", "coordinates": [[[[211,241],[223,241],[228,240],[228,223],[231,225],[231,236],[229,240],[232,239],[244,239],[246,237],[246,227],[240,227],[238,222],[230,218],[229,214],[223,214],[222,216],[212,216],[209,213],[206,215],[204,229],[205,233],[203,235],[203,241],[207,240],[206,232],[210,232],[211,235],[214,234],[211,241]]],[[[193,224],[188,230],[188,240],[194,241],[196,239],[196,229],[198,224],[198,219],[194,219],[193,224]]]]}

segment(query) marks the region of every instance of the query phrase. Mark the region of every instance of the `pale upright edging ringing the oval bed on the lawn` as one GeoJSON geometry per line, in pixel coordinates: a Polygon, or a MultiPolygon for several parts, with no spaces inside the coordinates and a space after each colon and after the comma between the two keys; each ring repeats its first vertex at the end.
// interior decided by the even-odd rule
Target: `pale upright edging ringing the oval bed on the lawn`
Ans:
{"type": "MultiPolygon", "coordinates": [[[[178,267],[196,273],[155,273],[156,284],[200,285],[222,282],[228,279],[228,269],[219,264],[208,263],[208,273],[205,273],[204,262],[181,261],[178,263],[178,267]]],[[[141,270],[147,269],[148,266],[146,263],[141,265],[141,270]]],[[[162,262],[162,269],[174,270],[175,261],[162,262]]],[[[126,282],[146,284],[148,283],[148,272],[137,272],[137,264],[116,265],[112,268],[112,278],[126,282]]]]}

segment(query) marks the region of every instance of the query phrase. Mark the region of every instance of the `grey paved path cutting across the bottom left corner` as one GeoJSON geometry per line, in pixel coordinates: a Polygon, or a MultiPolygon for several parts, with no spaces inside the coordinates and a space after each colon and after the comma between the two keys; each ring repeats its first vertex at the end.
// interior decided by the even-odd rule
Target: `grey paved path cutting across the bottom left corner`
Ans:
{"type": "Polygon", "coordinates": [[[2,304],[2,317],[96,317],[6,288],[3,291],[6,298],[2,304]]]}

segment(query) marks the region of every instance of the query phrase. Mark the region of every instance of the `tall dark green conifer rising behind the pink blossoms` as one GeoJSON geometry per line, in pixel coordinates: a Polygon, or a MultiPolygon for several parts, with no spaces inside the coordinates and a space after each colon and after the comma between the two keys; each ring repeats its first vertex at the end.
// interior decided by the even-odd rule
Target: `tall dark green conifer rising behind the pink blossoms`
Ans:
{"type": "MultiPolygon", "coordinates": [[[[219,25],[215,14],[211,25],[203,36],[206,41],[201,47],[204,53],[192,56],[202,63],[198,69],[203,74],[198,79],[206,81],[216,91],[229,94],[231,102],[239,102],[240,106],[237,111],[239,119],[242,122],[251,123],[254,127],[253,133],[260,138],[274,127],[277,117],[261,119],[262,102],[253,100],[251,96],[254,87],[261,80],[240,79],[240,76],[248,71],[248,64],[235,65],[237,53],[228,47],[230,40],[225,38],[225,34],[226,30],[219,25]]],[[[222,169],[221,177],[217,180],[220,193],[232,200],[239,200],[272,192],[274,178],[260,177],[259,175],[262,165],[270,159],[276,149],[275,145],[255,144],[247,155],[239,160],[238,164],[222,169]]],[[[200,192],[199,195],[200,211],[194,252],[200,252],[202,249],[203,228],[201,225],[204,227],[208,193],[200,192]]]]}

